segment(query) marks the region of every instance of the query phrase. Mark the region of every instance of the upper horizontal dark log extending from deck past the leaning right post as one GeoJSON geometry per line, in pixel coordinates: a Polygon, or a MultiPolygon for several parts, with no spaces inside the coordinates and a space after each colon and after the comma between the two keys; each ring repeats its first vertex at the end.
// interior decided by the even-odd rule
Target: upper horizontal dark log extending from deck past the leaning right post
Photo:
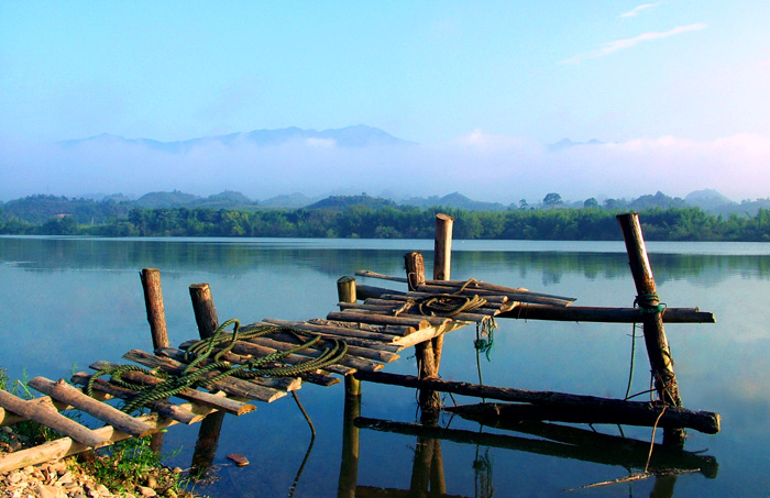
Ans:
{"type": "MultiPolygon", "coordinates": [[[[563,322],[597,323],[640,323],[642,312],[639,308],[600,308],[570,306],[568,308],[548,305],[520,303],[510,311],[498,314],[499,318],[520,320],[550,320],[563,322]]],[[[666,308],[661,318],[664,323],[715,323],[714,313],[698,311],[697,308],[666,308]]]]}

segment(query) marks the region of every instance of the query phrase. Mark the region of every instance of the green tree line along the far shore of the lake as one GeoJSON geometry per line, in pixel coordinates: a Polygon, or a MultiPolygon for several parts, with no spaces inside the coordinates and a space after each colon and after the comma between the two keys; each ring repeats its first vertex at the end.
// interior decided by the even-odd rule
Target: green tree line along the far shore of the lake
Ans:
{"type": "MultiPolygon", "coordinates": [[[[435,217],[454,218],[458,240],[620,240],[615,215],[596,207],[507,211],[453,208],[350,206],[345,209],[235,210],[132,208],[100,223],[82,224],[72,215],[33,223],[0,213],[0,233],[100,236],[244,236],[431,239],[435,217]]],[[[770,242],[770,209],[754,217],[710,214],[698,208],[648,209],[639,212],[645,239],[651,241],[770,242]]]]}

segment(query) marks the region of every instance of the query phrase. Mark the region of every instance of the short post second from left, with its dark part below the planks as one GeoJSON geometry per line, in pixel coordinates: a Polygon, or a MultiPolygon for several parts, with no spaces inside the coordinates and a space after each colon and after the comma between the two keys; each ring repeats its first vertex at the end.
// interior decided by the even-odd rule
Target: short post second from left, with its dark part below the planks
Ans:
{"type": "MultiPolygon", "coordinates": [[[[219,328],[219,319],[217,318],[217,309],[213,306],[209,285],[193,284],[190,286],[190,299],[193,300],[193,311],[195,312],[195,321],[198,324],[200,339],[210,337],[219,328]]],[[[200,423],[198,441],[195,443],[193,463],[190,464],[190,467],[198,475],[206,473],[213,463],[223,419],[224,412],[216,411],[206,417],[200,423]]]]}

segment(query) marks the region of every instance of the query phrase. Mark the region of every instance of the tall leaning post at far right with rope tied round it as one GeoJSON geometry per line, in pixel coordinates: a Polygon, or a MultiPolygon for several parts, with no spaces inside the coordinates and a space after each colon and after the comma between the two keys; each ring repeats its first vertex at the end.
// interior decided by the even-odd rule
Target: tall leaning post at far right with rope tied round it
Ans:
{"type": "MultiPolygon", "coordinates": [[[[628,263],[634,276],[637,290],[637,302],[641,308],[645,333],[645,345],[650,359],[654,387],[660,399],[669,406],[681,407],[676,376],[673,372],[673,358],[669,350],[669,341],[663,329],[663,319],[658,310],[660,299],[657,294],[652,268],[647,256],[647,247],[641,235],[641,224],[638,213],[619,214],[617,217],[626,241],[628,263]]],[[[664,439],[676,441],[684,439],[683,429],[670,429],[664,432],[664,439]]]]}

